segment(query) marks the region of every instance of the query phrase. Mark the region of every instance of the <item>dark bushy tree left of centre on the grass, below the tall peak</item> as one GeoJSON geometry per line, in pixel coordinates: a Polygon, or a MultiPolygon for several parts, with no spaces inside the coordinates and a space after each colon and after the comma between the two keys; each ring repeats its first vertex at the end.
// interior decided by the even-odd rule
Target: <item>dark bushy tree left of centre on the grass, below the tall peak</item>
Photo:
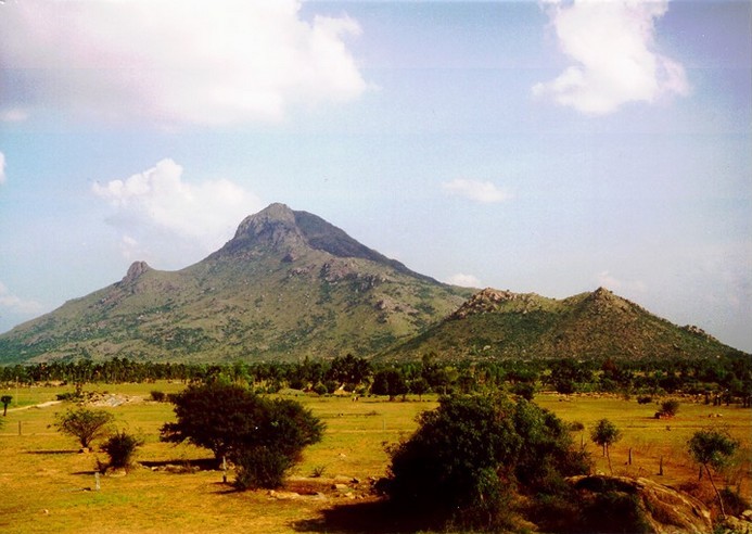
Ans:
{"type": "Polygon", "coordinates": [[[303,448],[321,440],[323,424],[289,399],[267,399],[238,384],[191,385],[173,397],[177,422],[162,440],[211,449],[237,466],[235,487],[277,487],[303,448]]]}

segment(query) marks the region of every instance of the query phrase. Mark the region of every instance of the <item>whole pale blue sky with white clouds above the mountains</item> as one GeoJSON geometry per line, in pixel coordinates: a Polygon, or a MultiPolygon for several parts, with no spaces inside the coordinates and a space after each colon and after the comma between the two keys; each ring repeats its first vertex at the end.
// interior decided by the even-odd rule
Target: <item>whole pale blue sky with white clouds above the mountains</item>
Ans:
{"type": "Polygon", "coordinates": [[[5,0],[0,332],[272,202],[752,352],[752,3],[5,0]]]}

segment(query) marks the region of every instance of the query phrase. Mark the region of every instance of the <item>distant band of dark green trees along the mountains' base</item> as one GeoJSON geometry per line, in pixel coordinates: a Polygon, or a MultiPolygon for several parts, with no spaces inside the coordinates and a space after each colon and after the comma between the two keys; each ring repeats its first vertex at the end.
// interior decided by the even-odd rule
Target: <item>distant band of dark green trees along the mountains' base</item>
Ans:
{"type": "Polygon", "coordinates": [[[80,359],[0,367],[0,383],[122,383],[173,380],[246,383],[259,392],[282,389],[337,390],[354,394],[396,397],[407,393],[470,393],[506,389],[531,397],[539,390],[559,393],[619,393],[624,395],[692,394],[714,402],[741,402],[752,397],[752,359],[665,358],[653,360],[530,359],[450,361],[435,355],[407,363],[375,364],[347,355],[297,363],[175,364],[113,358],[80,359]]]}

